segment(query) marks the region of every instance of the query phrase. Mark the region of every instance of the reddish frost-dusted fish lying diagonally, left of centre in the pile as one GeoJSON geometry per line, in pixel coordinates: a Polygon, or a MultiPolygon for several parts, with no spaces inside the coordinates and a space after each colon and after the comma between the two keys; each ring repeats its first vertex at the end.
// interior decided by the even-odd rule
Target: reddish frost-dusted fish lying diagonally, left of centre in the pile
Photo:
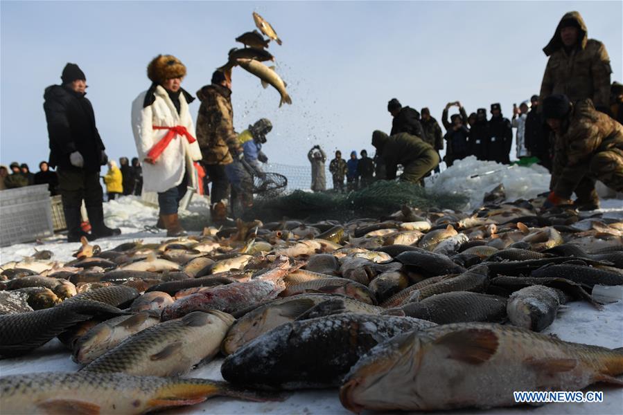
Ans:
{"type": "Polygon", "coordinates": [[[274,299],[286,288],[283,280],[270,281],[254,279],[249,282],[234,282],[218,286],[188,297],[177,299],[162,310],[161,320],[167,321],[182,317],[192,311],[220,310],[235,313],[241,308],[274,299]]]}

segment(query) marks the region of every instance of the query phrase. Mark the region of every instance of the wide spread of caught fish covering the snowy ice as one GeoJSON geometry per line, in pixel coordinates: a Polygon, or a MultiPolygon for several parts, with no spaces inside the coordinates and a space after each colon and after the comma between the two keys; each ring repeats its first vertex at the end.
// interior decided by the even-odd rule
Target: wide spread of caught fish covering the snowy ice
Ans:
{"type": "Polygon", "coordinates": [[[0,378],[2,409],[141,413],[328,387],[353,412],[436,410],[622,386],[623,349],[538,331],[623,285],[623,221],[538,204],[238,220],[111,250],[82,241],[66,264],[47,251],[2,264],[0,355],[58,338],[83,365],[0,378]],[[179,378],[218,355],[225,382],[179,378]]]}

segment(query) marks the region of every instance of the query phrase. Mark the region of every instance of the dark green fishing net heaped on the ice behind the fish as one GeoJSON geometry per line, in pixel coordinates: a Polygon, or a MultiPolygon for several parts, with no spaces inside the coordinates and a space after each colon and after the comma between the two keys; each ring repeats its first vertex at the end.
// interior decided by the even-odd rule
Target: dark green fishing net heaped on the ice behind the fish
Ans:
{"type": "Polygon", "coordinates": [[[345,221],[356,217],[387,215],[396,212],[402,205],[457,210],[467,201],[462,195],[431,192],[413,183],[376,181],[369,187],[349,193],[295,190],[276,197],[258,197],[245,217],[264,221],[281,220],[283,217],[345,221]]]}

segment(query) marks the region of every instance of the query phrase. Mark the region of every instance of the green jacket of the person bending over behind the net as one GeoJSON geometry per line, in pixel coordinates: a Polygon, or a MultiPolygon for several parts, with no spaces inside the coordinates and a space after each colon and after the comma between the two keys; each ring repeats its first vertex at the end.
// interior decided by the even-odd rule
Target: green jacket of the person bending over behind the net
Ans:
{"type": "Polygon", "coordinates": [[[430,144],[424,142],[417,136],[412,136],[407,133],[387,136],[385,133],[376,133],[375,131],[372,138],[372,145],[376,147],[383,161],[385,161],[385,178],[387,178],[387,180],[394,180],[394,178],[396,178],[396,169],[399,164],[406,166],[425,155],[434,155],[435,158],[437,158],[437,151],[435,151],[430,144]]]}

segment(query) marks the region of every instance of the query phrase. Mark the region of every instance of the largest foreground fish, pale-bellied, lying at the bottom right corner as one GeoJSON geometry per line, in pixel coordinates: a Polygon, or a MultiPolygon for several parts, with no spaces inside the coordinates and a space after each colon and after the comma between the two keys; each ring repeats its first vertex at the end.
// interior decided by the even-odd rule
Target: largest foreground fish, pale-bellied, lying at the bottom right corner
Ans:
{"type": "Polygon", "coordinates": [[[435,411],[519,405],[514,391],[622,386],[623,349],[563,342],[493,323],[444,324],[397,335],[353,366],[340,387],[346,409],[435,411]]]}

